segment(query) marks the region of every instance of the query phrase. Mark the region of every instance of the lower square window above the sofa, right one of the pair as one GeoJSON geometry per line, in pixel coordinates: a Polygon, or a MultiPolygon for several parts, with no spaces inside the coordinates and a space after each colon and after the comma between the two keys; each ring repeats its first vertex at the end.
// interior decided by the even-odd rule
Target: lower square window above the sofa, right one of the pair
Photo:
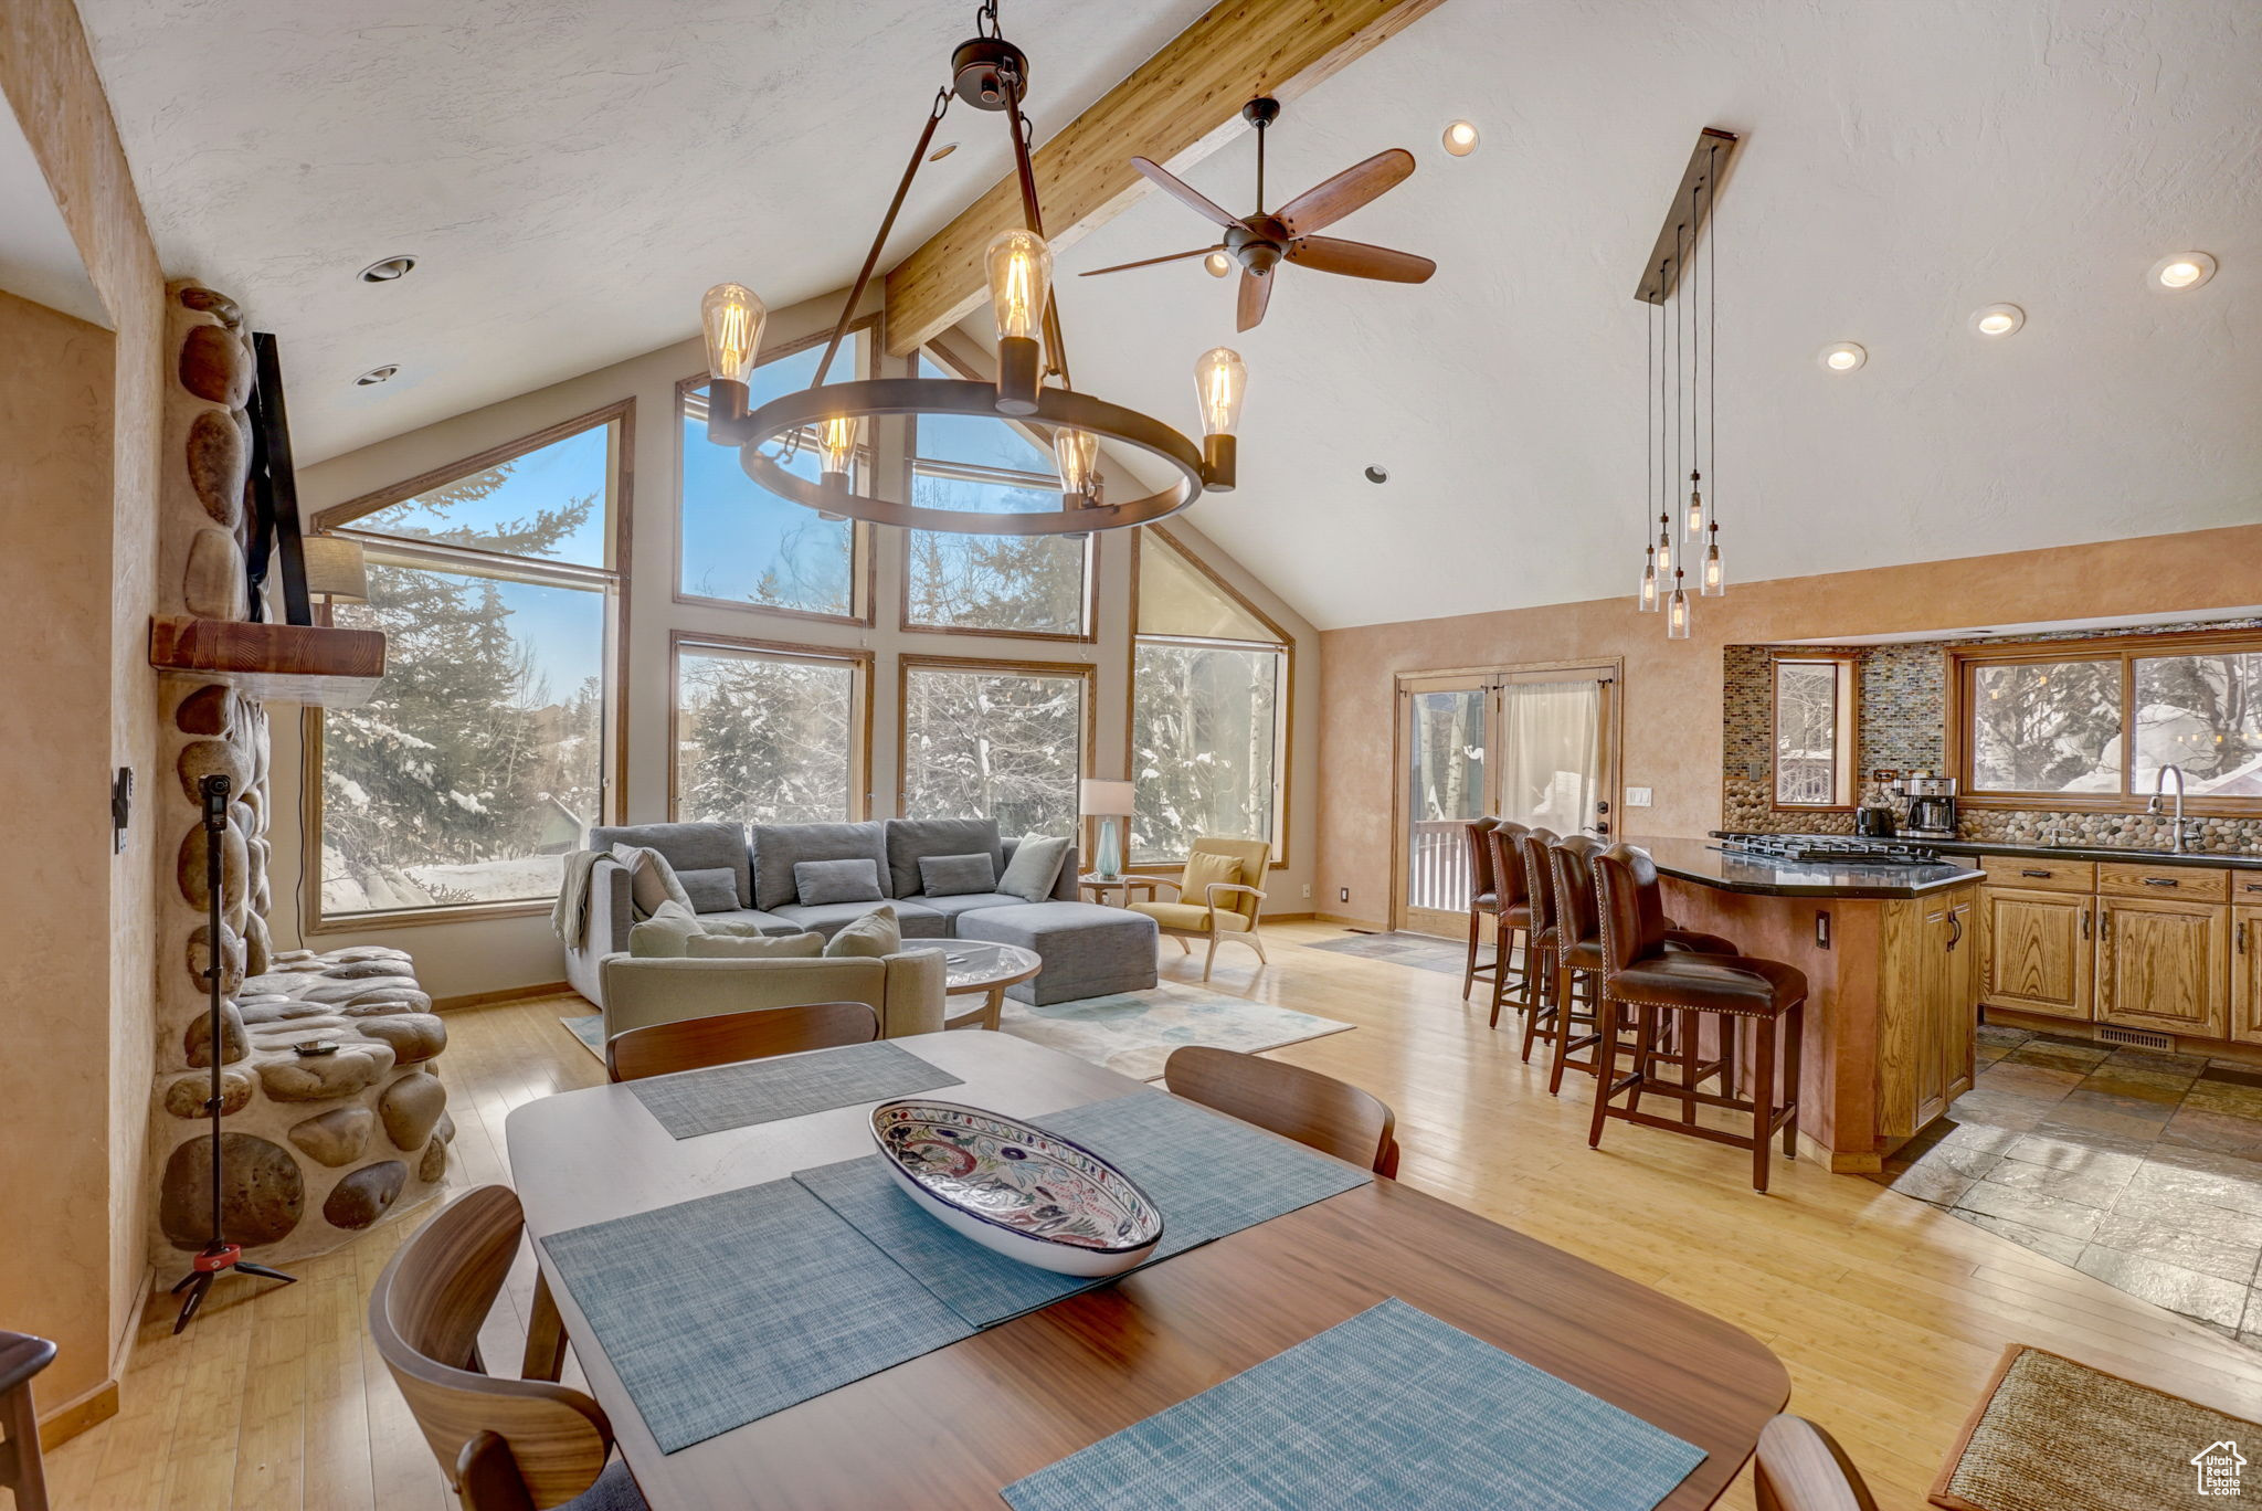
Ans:
{"type": "Polygon", "coordinates": [[[1090,670],[903,660],[903,812],[1074,835],[1090,670]]]}

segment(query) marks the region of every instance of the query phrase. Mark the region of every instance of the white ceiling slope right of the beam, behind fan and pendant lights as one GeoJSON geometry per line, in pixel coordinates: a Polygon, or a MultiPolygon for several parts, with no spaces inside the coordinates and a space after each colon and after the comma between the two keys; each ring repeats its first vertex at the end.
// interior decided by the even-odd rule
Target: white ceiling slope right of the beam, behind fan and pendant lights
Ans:
{"type": "MultiPolygon", "coordinates": [[[[1289,267],[1235,337],[1199,262],[1065,276],[1077,380],[1190,425],[1194,355],[1242,351],[1242,486],[1192,518],[1321,627],[1631,593],[1633,285],[1706,124],[1749,133],[1719,206],[1730,579],[2262,518],[2253,0],[1450,0],[1269,149],[1280,199],[1409,147],[1416,174],[1335,231],[1436,278],[1289,267]],[[1475,156],[1439,147],[1457,115],[1475,156]],[[2214,280],[2149,290],[2185,249],[2214,280]],[[1982,342],[1995,301],[2027,326],[1982,342]],[[1825,373],[1841,339],[1868,364],[1825,373]]],[[[1246,208],[1253,152],[1188,179],[1246,208]]],[[[1154,197],[1063,274],[1201,231],[1154,197]]]]}

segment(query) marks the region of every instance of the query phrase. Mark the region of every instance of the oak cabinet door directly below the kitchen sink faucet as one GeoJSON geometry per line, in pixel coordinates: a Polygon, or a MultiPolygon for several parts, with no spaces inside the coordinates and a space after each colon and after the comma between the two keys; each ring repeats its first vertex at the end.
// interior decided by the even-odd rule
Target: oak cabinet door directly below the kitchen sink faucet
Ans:
{"type": "Polygon", "coordinates": [[[2097,900],[2097,1020],[2228,1038],[2230,909],[2162,898],[2097,900]]]}

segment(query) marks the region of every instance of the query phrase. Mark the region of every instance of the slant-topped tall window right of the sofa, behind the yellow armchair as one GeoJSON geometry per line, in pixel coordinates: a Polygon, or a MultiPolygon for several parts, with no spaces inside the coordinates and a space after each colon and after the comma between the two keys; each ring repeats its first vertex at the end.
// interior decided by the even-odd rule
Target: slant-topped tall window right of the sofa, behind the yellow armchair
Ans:
{"type": "Polygon", "coordinates": [[[1192,841],[1280,851],[1287,636],[1158,529],[1140,532],[1131,658],[1131,862],[1185,860],[1192,841]]]}

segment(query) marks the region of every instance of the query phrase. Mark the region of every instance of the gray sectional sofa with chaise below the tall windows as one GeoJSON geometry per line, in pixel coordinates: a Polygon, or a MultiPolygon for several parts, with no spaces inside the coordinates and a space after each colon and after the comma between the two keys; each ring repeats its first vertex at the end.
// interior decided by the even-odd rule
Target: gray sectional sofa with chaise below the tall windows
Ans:
{"type": "Polygon", "coordinates": [[[1000,891],[927,896],[918,871],[923,857],[988,853],[995,873],[1004,873],[1020,841],[1000,837],[991,819],[756,823],[751,830],[737,823],[629,823],[588,832],[588,846],[602,860],[588,882],[584,939],[566,948],[566,979],[599,1007],[604,1007],[599,961],[629,948],[629,927],[636,923],[629,873],[611,860],[615,844],[665,855],[676,878],[692,891],[701,918],[717,923],[753,923],[765,934],[814,932],[830,939],[841,925],[887,903],[896,909],[903,936],[912,941],[957,939],[959,921],[968,914],[995,914],[984,918],[984,927],[966,930],[964,936],[1029,943],[1038,955],[1045,955],[1043,943],[1050,941],[1063,966],[1072,964],[1050,988],[1045,973],[1036,982],[1013,986],[1011,995],[1022,1002],[1061,1002],[1156,984],[1151,921],[1077,900],[1074,846],[1061,864],[1052,896],[1043,903],[1000,891]],[[871,860],[887,896],[875,903],[801,903],[794,864],[826,860],[871,860]],[[1133,927],[1126,923],[1131,918],[1145,925],[1138,939],[1131,936],[1133,927]]]}

